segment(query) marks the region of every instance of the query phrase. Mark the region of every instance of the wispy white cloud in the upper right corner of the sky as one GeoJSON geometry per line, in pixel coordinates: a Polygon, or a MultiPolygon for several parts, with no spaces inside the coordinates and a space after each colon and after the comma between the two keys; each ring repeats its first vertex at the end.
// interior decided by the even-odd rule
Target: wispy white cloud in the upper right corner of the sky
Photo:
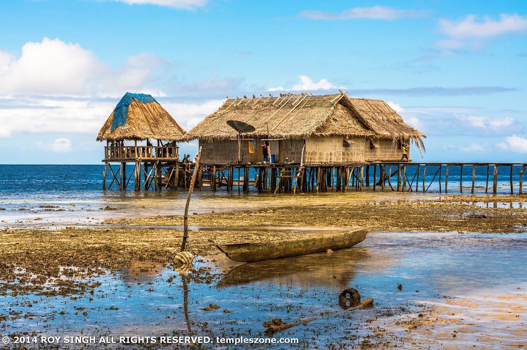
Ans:
{"type": "Polygon", "coordinates": [[[459,21],[442,18],[439,31],[448,36],[437,42],[444,48],[459,48],[466,44],[481,46],[486,39],[513,33],[527,33],[527,16],[518,14],[501,14],[495,20],[485,16],[478,21],[476,16],[467,15],[459,21]]]}

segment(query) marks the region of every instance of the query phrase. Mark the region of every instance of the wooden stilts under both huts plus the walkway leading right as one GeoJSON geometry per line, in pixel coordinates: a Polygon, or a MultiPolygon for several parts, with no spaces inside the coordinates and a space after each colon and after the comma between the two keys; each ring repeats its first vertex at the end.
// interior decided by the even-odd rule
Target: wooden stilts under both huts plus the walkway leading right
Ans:
{"type": "MultiPolygon", "coordinates": [[[[187,189],[193,166],[180,163],[179,159],[167,158],[167,149],[159,148],[165,147],[152,147],[151,152],[146,153],[150,154],[149,157],[144,156],[144,149],[139,149],[135,154],[144,157],[116,158],[115,161],[120,164],[117,171],[110,165],[114,159],[105,159],[104,178],[107,169],[112,177],[110,185],[103,185],[103,189],[110,189],[115,183],[118,189],[124,190],[132,175],[135,191],[187,189]],[[127,162],[134,166],[128,177],[127,162]]],[[[273,194],[360,192],[365,188],[379,192],[497,194],[498,175],[503,178],[505,174],[509,180],[506,184],[508,191],[505,192],[513,194],[523,193],[525,167],[527,163],[202,164],[198,169],[196,188],[200,191],[210,188],[213,192],[223,189],[236,193],[256,191],[273,194]],[[476,186],[477,170],[480,173],[479,182],[482,181],[481,168],[484,169],[485,186],[476,186]]]]}

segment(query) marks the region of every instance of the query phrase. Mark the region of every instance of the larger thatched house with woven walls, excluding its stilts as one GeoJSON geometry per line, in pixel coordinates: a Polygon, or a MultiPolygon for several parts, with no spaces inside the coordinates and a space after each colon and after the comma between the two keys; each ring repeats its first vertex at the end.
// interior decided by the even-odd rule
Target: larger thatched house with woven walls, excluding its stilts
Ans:
{"type": "MultiPolygon", "coordinates": [[[[236,160],[237,142],[233,140],[237,132],[227,125],[228,120],[255,127],[254,132],[242,135],[247,141],[276,141],[270,144],[276,162],[285,157],[296,162],[302,158],[311,164],[400,159],[402,144],[412,140],[424,149],[426,137],[378,99],[348,97],[345,92],[244,96],[228,98],[185,135],[187,141],[200,141],[204,162],[226,164],[236,160]]],[[[244,162],[264,161],[262,152],[250,152],[255,146],[258,143],[242,148],[244,162]]]]}

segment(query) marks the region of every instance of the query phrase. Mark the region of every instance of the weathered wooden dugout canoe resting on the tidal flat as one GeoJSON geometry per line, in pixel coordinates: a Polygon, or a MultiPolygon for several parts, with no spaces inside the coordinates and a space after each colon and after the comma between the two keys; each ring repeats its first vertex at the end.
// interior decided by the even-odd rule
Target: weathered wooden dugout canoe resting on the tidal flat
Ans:
{"type": "Polygon", "coordinates": [[[259,243],[216,244],[230,259],[238,262],[255,262],[291,256],[338,251],[364,241],[370,227],[360,227],[339,233],[308,235],[295,239],[259,243]]]}

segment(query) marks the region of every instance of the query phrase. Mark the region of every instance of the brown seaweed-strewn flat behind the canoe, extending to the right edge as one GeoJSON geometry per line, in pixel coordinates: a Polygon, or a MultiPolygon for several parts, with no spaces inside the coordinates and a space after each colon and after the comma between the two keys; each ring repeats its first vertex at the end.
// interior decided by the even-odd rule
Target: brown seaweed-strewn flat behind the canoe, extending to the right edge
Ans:
{"type": "MultiPolygon", "coordinates": [[[[351,196],[350,196],[351,197],[351,196]]],[[[527,211],[513,203],[527,201],[527,195],[445,196],[441,198],[398,198],[393,201],[356,203],[310,203],[275,206],[264,210],[235,213],[195,213],[189,218],[194,226],[370,226],[380,231],[455,231],[514,233],[527,230],[527,211]],[[510,203],[511,208],[501,204],[510,203]]],[[[105,224],[182,225],[182,218],[149,217],[108,219],[105,224]]]]}

